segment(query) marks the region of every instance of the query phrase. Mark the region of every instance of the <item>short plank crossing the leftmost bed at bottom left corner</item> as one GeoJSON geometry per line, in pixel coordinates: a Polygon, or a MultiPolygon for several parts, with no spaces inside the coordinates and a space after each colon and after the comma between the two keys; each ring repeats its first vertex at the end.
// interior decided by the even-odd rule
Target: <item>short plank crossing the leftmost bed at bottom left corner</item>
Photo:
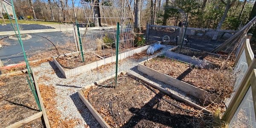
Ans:
{"type": "Polygon", "coordinates": [[[38,112],[32,116],[29,116],[25,119],[15,122],[14,124],[7,126],[6,128],[18,128],[22,125],[25,125],[26,123],[32,122],[33,120],[40,118],[42,114],[43,114],[42,112],[38,112]]]}

